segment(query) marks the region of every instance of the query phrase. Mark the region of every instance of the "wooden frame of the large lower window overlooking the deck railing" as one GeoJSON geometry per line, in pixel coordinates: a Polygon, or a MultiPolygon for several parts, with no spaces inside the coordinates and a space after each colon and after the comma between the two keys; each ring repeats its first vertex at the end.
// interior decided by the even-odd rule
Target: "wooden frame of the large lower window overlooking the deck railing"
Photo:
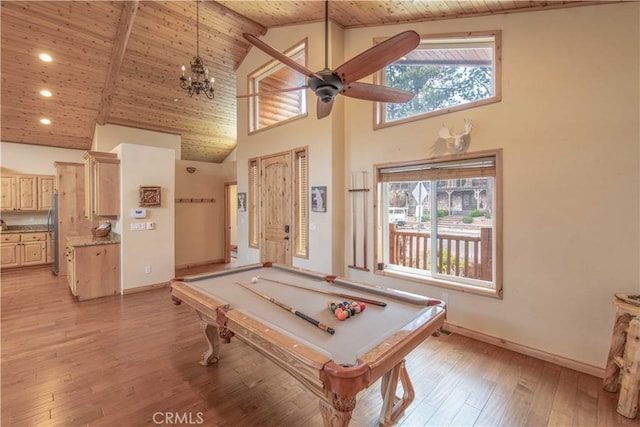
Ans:
{"type": "MultiPolygon", "coordinates": [[[[503,194],[503,182],[502,182],[502,172],[503,164],[502,164],[502,149],[496,150],[487,150],[487,151],[478,151],[473,153],[464,153],[464,154],[453,154],[448,156],[441,156],[437,158],[431,159],[423,159],[416,161],[406,161],[406,162],[398,162],[398,163],[385,163],[374,165],[374,176],[376,179],[375,187],[374,187],[374,199],[376,201],[376,212],[374,215],[374,257],[375,257],[375,265],[376,268],[374,270],[375,274],[398,278],[402,280],[410,280],[413,282],[418,282],[426,285],[447,288],[447,289],[455,289],[462,292],[468,292],[483,296],[495,297],[498,299],[502,299],[503,294],[503,265],[502,265],[502,253],[503,253],[503,235],[502,235],[502,223],[503,223],[503,213],[502,213],[502,194],[503,194]],[[448,278],[443,278],[441,274],[437,274],[437,277],[432,276],[430,273],[425,274],[417,274],[413,270],[403,269],[402,266],[394,266],[393,269],[385,268],[385,253],[389,251],[390,243],[385,239],[388,239],[388,231],[384,229],[384,227],[388,226],[387,224],[387,213],[386,210],[388,208],[387,203],[383,194],[383,170],[385,169],[393,169],[393,168],[419,168],[424,165],[435,165],[439,163],[446,162],[464,162],[464,161],[472,161],[478,160],[482,158],[493,157],[495,159],[495,175],[494,175],[494,206],[493,206],[493,217],[494,217],[494,230],[493,230],[493,239],[494,245],[492,248],[492,262],[493,262],[493,287],[489,287],[486,285],[480,286],[473,283],[473,280],[465,279],[463,277],[456,278],[455,276],[450,276],[448,278]],[[386,251],[386,252],[385,252],[386,251]]],[[[436,230],[437,233],[437,230],[436,230]]]]}

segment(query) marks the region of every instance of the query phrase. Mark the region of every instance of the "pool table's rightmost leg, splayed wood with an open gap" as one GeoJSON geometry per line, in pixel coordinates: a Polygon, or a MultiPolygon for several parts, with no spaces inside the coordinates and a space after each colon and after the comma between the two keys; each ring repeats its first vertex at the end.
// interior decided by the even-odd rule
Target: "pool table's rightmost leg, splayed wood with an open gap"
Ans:
{"type": "Polygon", "coordinates": [[[409,379],[404,360],[383,375],[380,391],[382,393],[382,410],[380,424],[383,426],[394,424],[404,410],[413,402],[415,391],[409,379]],[[396,396],[398,381],[402,383],[402,398],[396,396]]]}

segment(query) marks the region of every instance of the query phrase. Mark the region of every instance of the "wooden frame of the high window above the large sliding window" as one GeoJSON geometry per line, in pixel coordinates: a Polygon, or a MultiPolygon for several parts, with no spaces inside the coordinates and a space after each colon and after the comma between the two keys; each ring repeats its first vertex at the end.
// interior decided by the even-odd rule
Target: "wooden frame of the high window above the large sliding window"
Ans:
{"type": "MultiPolygon", "coordinates": [[[[423,41],[427,43],[433,40],[447,40],[447,39],[473,39],[482,37],[494,38],[494,57],[493,57],[493,90],[494,94],[490,98],[481,99],[478,101],[472,101],[461,105],[448,107],[441,110],[430,111],[426,113],[416,114],[414,116],[405,117],[403,119],[387,121],[386,119],[386,103],[374,102],[373,103],[373,129],[384,129],[390,126],[396,126],[403,123],[410,123],[416,120],[423,120],[429,117],[436,117],[443,114],[453,113],[456,111],[464,111],[470,108],[476,108],[483,105],[493,104],[502,101],[502,31],[490,30],[490,31],[471,31],[464,33],[443,33],[443,34],[427,34],[421,35],[421,44],[423,41]]],[[[378,44],[384,41],[384,38],[374,39],[374,44],[378,44]]],[[[373,75],[374,84],[385,85],[385,70],[387,67],[382,68],[380,71],[373,75]]]]}

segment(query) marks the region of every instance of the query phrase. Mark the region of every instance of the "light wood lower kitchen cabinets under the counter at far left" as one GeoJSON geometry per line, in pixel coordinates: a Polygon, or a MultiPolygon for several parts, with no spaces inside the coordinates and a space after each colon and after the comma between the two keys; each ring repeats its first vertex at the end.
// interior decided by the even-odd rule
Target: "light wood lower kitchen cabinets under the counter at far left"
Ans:
{"type": "Polygon", "coordinates": [[[47,232],[2,233],[0,268],[47,264],[47,232]]]}

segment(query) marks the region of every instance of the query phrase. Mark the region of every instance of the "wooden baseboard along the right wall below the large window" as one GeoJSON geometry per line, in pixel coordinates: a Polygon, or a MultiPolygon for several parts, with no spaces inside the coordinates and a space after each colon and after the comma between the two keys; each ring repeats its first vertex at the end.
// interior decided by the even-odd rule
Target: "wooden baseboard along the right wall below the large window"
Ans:
{"type": "Polygon", "coordinates": [[[493,344],[498,347],[506,348],[507,350],[515,351],[516,353],[525,354],[527,356],[535,357],[536,359],[544,360],[545,362],[555,363],[556,365],[563,366],[565,368],[573,369],[585,374],[593,375],[598,378],[604,378],[604,368],[598,368],[597,366],[588,365],[586,363],[578,362],[576,360],[567,359],[566,357],[558,356],[556,354],[547,353],[542,350],[527,347],[522,344],[517,344],[511,341],[504,340],[502,338],[496,338],[491,335],[486,335],[481,332],[472,331],[462,326],[452,325],[451,323],[445,323],[443,329],[451,331],[456,334],[463,335],[465,337],[473,338],[478,341],[493,344]]]}

